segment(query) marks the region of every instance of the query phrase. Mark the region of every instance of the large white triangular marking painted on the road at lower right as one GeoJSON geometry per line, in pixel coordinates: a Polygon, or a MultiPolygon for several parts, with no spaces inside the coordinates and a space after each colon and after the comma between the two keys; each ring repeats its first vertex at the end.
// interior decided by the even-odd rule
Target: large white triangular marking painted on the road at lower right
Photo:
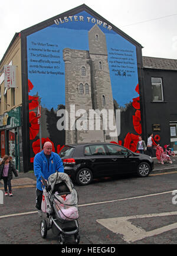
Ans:
{"type": "Polygon", "coordinates": [[[123,240],[128,242],[135,242],[143,238],[159,235],[166,231],[177,228],[177,222],[171,225],[163,226],[162,228],[153,229],[152,231],[146,232],[145,229],[133,225],[129,220],[130,219],[139,219],[139,218],[152,218],[152,217],[161,217],[177,215],[177,212],[163,212],[163,213],[152,213],[144,215],[133,215],[119,218],[109,218],[109,219],[97,219],[97,222],[105,226],[113,233],[123,235],[123,240]]]}

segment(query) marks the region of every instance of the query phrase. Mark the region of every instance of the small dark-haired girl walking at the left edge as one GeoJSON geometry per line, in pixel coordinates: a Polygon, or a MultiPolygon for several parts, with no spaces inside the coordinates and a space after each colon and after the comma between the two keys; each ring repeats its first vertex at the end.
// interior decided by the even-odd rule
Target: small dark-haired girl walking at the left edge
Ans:
{"type": "Polygon", "coordinates": [[[0,179],[3,179],[4,181],[5,196],[8,196],[8,188],[9,196],[13,196],[11,186],[12,172],[14,173],[15,177],[18,176],[14,165],[11,163],[9,155],[4,155],[0,166],[0,179]]]}

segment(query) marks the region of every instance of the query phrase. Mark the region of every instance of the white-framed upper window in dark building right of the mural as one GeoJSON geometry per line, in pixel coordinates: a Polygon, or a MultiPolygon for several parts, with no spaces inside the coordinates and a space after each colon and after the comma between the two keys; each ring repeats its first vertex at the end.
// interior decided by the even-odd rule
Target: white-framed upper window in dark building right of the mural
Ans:
{"type": "Polygon", "coordinates": [[[151,77],[152,101],[163,101],[162,78],[151,77]]]}

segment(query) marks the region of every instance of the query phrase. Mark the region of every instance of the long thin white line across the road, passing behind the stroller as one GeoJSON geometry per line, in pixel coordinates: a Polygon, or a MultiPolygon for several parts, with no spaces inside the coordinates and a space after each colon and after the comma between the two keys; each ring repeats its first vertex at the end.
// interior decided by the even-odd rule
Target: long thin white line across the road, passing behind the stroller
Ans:
{"type": "MultiPolygon", "coordinates": [[[[155,193],[155,194],[149,194],[149,195],[144,195],[144,196],[127,197],[127,198],[122,198],[122,199],[115,199],[115,200],[96,202],[96,203],[86,203],[84,205],[78,205],[78,207],[91,206],[91,205],[100,205],[102,203],[113,203],[113,202],[119,202],[119,201],[124,201],[124,200],[132,200],[132,199],[149,197],[149,196],[159,196],[159,195],[164,195],[164,194],[172,193],[173,191],[174,190],[166,191],[166,192],[160,192],[160,193],[155,193]]],[[[2,215],[2,216],[0,216],[0,219],[7,218],[7,217],[13,217],[13,216],[28,215],[28,214],[33,214],[33,213],[37,213],[37,211],[34,211],[34,212],[23,212],[23,213],[14,213],[14,214],[10,214],[10,215],[2,215]]]]}

